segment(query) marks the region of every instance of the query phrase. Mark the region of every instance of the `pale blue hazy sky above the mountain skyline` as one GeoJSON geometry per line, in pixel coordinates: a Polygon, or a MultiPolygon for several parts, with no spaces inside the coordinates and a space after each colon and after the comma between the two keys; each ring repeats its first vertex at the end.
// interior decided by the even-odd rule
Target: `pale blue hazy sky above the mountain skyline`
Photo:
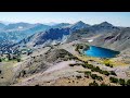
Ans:
{"type": "Polygon", "coordinates": [[[0,12],[0,21],[26,23],[76,23],[93,25],[104,21],[130,27],[130,12],[0,12]]]}

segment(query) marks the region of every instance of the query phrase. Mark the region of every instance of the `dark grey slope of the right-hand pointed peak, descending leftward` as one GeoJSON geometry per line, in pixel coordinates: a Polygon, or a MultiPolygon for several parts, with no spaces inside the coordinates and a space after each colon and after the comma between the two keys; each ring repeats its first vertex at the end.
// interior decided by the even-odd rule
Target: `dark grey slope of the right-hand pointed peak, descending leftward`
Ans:
{"type": "Polygon", "coordinates": [[[74,30],[72,35],[67,38],[67,42],[77,39],[89,38],[92,36],[96,36],[99,34],[103,35],[107,33],[113,33],[119,29],[120,29],[119,27],[113,26],[110,23],[103,22],[101,24],[95,24],[92,26],[80,28],[78,30],[74,30]]]}

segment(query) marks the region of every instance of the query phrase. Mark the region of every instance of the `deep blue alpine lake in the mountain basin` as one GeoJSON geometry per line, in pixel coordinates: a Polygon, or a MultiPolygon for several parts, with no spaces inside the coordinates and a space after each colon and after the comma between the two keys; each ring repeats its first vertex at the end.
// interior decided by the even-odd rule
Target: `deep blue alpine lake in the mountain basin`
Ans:
{"type": "Polygon", "coordinates": [[[84,50],[84,54],[96,58],[114,58],[119,54],[119,51],[109,50],[106,48],[90,46],[89,50],[84,50]]]}

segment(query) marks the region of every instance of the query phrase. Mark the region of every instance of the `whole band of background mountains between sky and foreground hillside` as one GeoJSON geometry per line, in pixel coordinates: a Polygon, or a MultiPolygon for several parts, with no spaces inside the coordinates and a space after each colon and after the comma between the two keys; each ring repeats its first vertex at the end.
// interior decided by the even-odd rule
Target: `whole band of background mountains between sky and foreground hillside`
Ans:
{"type": "Polygon", "coordinates": [[[82,38],[96,37],[91,45],[117,50],[129,48],[129,27],[114,26],[108,22],[89,25],[79,21],[75,24],[60,23],[55,25],[13,23],[0,24],[1,50],[9,46],[44,47],[70,42],[82,38]]]}

